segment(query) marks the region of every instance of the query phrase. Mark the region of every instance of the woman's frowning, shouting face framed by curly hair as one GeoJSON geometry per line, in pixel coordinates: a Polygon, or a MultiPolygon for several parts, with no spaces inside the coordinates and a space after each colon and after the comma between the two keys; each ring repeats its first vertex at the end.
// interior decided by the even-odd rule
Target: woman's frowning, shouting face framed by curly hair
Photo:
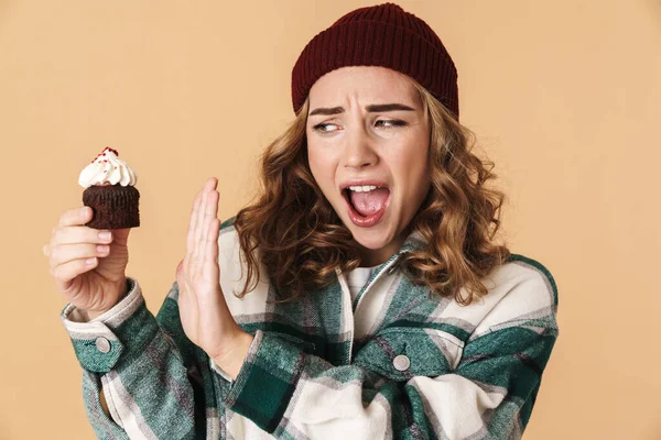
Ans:
{"type": "Polygon", "coordinates": [[[384,67],[333,70],[310,90],[305,132],[312,174],[362,265],[383,263],[430,188],[430,127],[413,82],[384,67]]]}

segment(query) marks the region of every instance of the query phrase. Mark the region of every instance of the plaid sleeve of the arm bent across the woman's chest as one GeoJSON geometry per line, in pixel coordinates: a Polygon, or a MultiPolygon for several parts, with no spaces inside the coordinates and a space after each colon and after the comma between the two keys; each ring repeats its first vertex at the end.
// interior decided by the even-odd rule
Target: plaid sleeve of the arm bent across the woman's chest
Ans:
{"type": "Polygon", "coordinates": [[[340,366],[258,330],[225,404],[275,438],[518,439],[557,337],[549,286],[516,283],[456,365],[426,330],[386,329],[340,366]]]}

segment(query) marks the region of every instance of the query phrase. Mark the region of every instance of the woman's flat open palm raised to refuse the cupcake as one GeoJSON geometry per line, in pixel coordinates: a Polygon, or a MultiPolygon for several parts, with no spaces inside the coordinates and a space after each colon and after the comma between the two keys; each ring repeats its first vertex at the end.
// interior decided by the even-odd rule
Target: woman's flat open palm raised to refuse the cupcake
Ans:
{"type": "Polygon", "coordinates": [[[182,327],[188,339],[213,359],[231,353],[242,330],[231,316],[218,266],[218,180],[210,177],[197,194],[191,212],[186,256],[176,267],[182,327]]]}

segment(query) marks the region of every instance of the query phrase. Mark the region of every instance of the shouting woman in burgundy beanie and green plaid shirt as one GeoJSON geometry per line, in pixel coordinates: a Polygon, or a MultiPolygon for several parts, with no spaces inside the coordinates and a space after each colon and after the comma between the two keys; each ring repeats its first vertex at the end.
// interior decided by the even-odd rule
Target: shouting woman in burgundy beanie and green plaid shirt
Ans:
{"type": "Polygon", "coordinates": [[[155,318],[124,274],[129,231],[62,216],[45,253],[96,433],[521,437],[556,288],[492,242],[503,196],[436,34],[392,3],[353,11],[307,44],[292,100],[258,199],[220,224],[217,180],[197,195],[155,318]]]}

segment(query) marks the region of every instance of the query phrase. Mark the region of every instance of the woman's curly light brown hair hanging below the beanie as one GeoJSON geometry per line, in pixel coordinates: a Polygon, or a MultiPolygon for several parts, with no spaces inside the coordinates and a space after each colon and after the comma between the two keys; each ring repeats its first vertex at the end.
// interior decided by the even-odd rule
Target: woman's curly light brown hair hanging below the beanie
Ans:
{"type": "MultiPolygon", "coordinates": [[[[468,305],[487,294],[481,279],[510,255],[505,245],[494,243],[506,196],[485,186],[496,177],[494,163],[470,152],[474,133],[411,80],[429,116],[432,185],[405,231],[419,232],[426,243],[405,253],[401,267],[412,284],[427,286],[430,295],[468,305]]],[[[278,302],[332,284],[336,268],[360,265],[358,244],[310,170],[307,111],[306,99],[295,120],[266,148],[261,188],[235,219],[247,263],[239,297],[259,283],[260,263],[278,302]]]]}

